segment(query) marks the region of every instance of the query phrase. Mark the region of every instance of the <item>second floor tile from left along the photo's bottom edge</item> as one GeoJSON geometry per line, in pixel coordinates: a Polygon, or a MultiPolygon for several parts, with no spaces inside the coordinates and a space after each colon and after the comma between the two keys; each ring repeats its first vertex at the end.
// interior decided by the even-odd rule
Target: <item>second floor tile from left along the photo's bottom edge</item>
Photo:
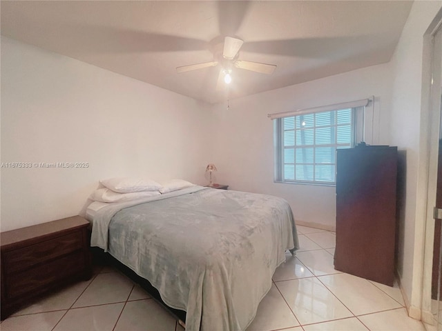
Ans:
{"type": "Polygon", "coordinates": [[[112,331],[123,307],[124,303],[113,303],[70,309],[57,324],[54,331],[112,331]]]}

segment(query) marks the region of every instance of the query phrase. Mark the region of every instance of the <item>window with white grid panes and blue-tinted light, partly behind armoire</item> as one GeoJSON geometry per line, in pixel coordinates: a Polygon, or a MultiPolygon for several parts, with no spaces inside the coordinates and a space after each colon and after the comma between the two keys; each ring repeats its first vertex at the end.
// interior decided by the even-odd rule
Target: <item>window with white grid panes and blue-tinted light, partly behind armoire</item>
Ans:
{"type": "Polygon", "coordinates": [[[276,181],[336,183],[336,149],[352,148],[363,107],[311,112],[274,120],[276,181]]]}

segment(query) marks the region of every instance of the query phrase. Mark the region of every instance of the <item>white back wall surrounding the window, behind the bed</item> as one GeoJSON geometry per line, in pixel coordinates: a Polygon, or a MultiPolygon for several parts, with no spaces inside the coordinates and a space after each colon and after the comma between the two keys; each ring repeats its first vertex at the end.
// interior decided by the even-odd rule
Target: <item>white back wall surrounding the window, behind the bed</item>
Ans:
{"type": "Polygon", "coordinates": [[[391,79],[387,63],[231,100],[229,110],[227,102],[214,106],[216,181],[233,190],[283,197],[298,223],[334,230],[334,186],[273,183],[273,123],[267,114],[374,96],[374,123],[366,123],[367,132],[373,127],[374,141],[366,141],[387,144],[391,79]]]}

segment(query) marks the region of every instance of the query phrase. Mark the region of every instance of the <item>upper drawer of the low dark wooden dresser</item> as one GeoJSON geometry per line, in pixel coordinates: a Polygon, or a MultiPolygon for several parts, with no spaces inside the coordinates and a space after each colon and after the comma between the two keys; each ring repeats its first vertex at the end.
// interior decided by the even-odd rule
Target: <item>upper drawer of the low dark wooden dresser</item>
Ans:
{"type": "Polygon", "coordinates": [[[82,232],[76,231],[65,236],[36,243],[18,250],[3,253],[3,262],[8,274],[19,272],[32,265],[60,257],[79,250],[83,245],[82,232]]]}

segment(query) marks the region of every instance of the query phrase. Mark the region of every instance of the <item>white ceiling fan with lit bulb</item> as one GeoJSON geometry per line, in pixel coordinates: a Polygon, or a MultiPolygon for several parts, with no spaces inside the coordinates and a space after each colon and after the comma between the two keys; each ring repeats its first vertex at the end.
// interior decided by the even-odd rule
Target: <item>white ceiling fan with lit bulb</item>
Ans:
{"type": "Polygon", "coordinates": [[[218,76],[218,83],[216,85],[217,90],[222,90],[223,81],[226,84],[231,82],[231,72],[233,67],[254,72],[260,72],[262,74],[271,74],[273,73],[273,71],[275,71],[276,65],[274,64],[238,60],[239,51],[242,43],[244,43],[244,41],[242,41],[241,39],[225,37],[224,44],[219,44],[215,46],[215,51],[213,54],[214,61],[195,63],[189,66],[180,66],[177,67],[176,70],[178,73],[182,73],[191,70],[214,67],[220,64],[222,68],[220,69],[220,74],[218,76]]]}

